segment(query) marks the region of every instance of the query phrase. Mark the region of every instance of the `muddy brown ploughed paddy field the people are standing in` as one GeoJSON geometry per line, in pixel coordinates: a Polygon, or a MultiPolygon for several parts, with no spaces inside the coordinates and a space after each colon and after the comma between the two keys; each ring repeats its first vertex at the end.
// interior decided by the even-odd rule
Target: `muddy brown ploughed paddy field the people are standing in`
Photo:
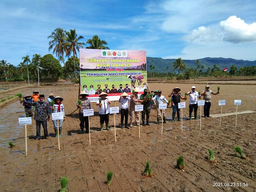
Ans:
{"type": "MultiPolygon", "coordinates": [[[[177,84],[176,84],[177,85],[177,84]]],[[[152,90],[161,89],[167,97],[175,84],[151,83],[152,90]]],[[[189,91],[192,84],[178,84],[181,93],[189,91]]],[[[204,85],[196,84],[197,91],[204,85]]],[[[237,127],[235,116],[200,120],[185,120],[187,108],[183,110],[184,127],[181,133],[180,122],[171,123],[172,109],[167,109],[167,124],[164,124],[163,135],[161,125],[155,124],[156,111],[151,110],[150,126],[141,127],[140,139],[138,127],[117,129],[117,142],[114,142],[114,130],[80,134],[78,112],[76,109],[78,87],[55,86],[41,87],[40,93],[63,96],[66,120],[64,121],[61,151],[58,150],[57,139],[35,141],[35,123],[28,128],[28,155],[25,157],[25,130],[17,126],[18,118],[25,113],[19,102],[12,103],[0,110],[0,162],[1,191],[58,191],[60,177],[69,178],[68,191],[255,191],[256,190],[256,147],[255,123],[256,114],[238,116],[237,127]],[[8,147],[11,140],[16,145],[8,147]],[[242,160],[234,152],[235,146],[241,146],[249,161],[242,160]],[[207,162],[208,149],[215,152],[217,165],[207,162]],[[184,157],[185,171],[176,169],[178,155],[184,157]],[[141,174],[150,161],[155,173],[151,178],[142,178],[141,174]],[[114,173],[112,184],[107,186],[106,173],[114,173]],[[214,182],[222,183],[222,187],[213,187],[214,182]],[[225,182],[235,182],[236,187],[224,187],[225,182]],[[248,187],[238,187],[237,182],[248,183],[248,187]]],[[[217,91],[217,85],[210,89],[217,91]]],[[[22,90],[30,93],[34,88],[22,90]]],[[[223,113],[236,111],[234,99],[242,99],[238,111],[256,109],[256,86],[222,85],[221,94],[212,96],[211,114],[220,113],[219,99],[226,99],[223,113]],[[241,92],[242,97],[240,95],[241,92]]],[[[116,103],[118,105],[118,103],[116,103]]],[[[114,106],[114,103],[111,103],[114,106]]],[[[93,108],[98,109],[93,103],[93,108]]],[[[199,108],[200,109],[200,108],[199,108]]],[[[199,110],[200,111],[200,110],[199,110]]],[[[120,122],[120,114],[116,117],[120,122]]],[[[91,127],[99,130],[99,117],[91,117],[91,127]]],[[[110,125],[113,116],[110,115],[110,125]]],[[[48,122],[48,132],[53,134],[52,122],[48,122]]],[[[42,134],[42,131],[41,131],[42,134]]]]}

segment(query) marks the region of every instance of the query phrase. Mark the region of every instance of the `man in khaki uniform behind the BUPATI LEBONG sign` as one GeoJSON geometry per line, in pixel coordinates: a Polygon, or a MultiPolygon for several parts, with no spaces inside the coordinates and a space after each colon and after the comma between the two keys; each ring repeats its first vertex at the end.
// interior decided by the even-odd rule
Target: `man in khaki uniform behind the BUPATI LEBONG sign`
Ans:
{"type": "Polygon", "coordinates": [[[136,87],[134,89],[134,94],[131,95],[131,102],[130,102],[130,110],[129,110],[129,115],[130,115],[130,128],[132,128],[133,124],[133,118],[135,116],[135,122],[136,126],[139,126],[139,112],[135,111],[135,105],[139,105],[139,102],[141,103],[142,100],[138,98],[138,92],[140,90],[136,87]]]}

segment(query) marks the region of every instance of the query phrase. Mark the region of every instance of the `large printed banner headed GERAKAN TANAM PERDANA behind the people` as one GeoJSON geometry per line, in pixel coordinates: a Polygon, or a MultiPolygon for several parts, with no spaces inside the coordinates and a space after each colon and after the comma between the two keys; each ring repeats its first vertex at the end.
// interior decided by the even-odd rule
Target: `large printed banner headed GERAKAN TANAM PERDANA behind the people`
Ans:
{"type": "Polygon", "coordinates": [[[138,87],[142,94],[146,88],[146,50],[79,49],[79,57],[81,89],[91,102],[102,91],[109,101],[117,101],[123,92],[131,95],[138,87]]]}

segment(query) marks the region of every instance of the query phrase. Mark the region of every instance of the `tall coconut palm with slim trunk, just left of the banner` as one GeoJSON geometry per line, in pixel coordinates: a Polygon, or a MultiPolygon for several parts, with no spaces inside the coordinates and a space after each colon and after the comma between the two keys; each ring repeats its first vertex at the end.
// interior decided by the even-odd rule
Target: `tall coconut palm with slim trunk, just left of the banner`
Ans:
{"type": "Polygon", "coordinates": [[[70,30],[66,33],[66,42],[64,43],[64,50],[66,52],[66,56],[70,56],[71,53],[73,52],[73,59],[74,59],[74,74],[76,80],[76,63],[75,63],[75,56],[77,57],[76,50],[79,50],[79,48],[83,48],[83,45],[86,45],[85,43],[79,42],[79,40],[83,39],[84,37],[76,34],[76,30],[70,30]]]}

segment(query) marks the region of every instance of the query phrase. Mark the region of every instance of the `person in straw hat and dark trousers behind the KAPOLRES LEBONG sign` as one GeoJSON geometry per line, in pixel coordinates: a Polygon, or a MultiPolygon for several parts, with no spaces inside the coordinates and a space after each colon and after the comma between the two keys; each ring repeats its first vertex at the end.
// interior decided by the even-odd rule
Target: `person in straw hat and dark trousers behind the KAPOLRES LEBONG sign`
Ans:
{"type": "MultiPolygon", "coordinates": [[[[94,90],[95,91],[95,90],[94,90]]],[[[81,98],[79,99],[80,102],[76,103],[76,106],[79,108],[79,120],[80,120],[80,129],[81,129],[81,134],[83,134],[83,130],[84,130],[84,125],[86,128],[85,133],[89,133],[89,117],[83,116],[83,110],[84,109],[91,109],[91,102],[88,98],[86,98],[86,96],[88,96],[89,94],[86,93],[85,91],[82,91],[79,96],[81,96],[81,98]],[[80,105],[79,105],[80,103],[80,105]]]]}

